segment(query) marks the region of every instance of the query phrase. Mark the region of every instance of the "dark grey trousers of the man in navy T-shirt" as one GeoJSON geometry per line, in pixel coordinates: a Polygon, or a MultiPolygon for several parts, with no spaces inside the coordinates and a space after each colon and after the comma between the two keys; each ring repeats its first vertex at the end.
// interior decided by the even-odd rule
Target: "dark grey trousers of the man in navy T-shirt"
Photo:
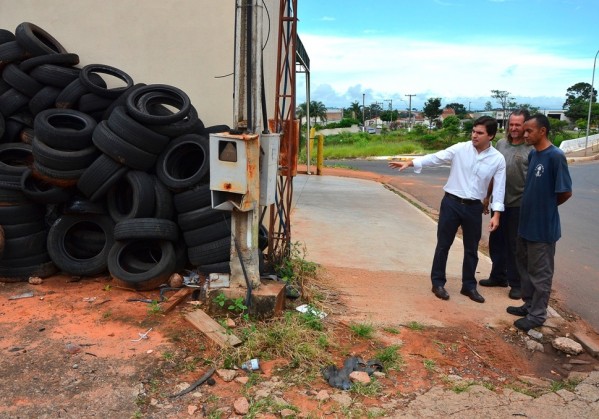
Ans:
{"type": "Polygon", "coordinates": [[[522,279],[522,299],[526,318],[540,326],[547,320],[547,307],[553,283],[555,243],[538,243],[518,237],[518,269],[522,279]]]}

